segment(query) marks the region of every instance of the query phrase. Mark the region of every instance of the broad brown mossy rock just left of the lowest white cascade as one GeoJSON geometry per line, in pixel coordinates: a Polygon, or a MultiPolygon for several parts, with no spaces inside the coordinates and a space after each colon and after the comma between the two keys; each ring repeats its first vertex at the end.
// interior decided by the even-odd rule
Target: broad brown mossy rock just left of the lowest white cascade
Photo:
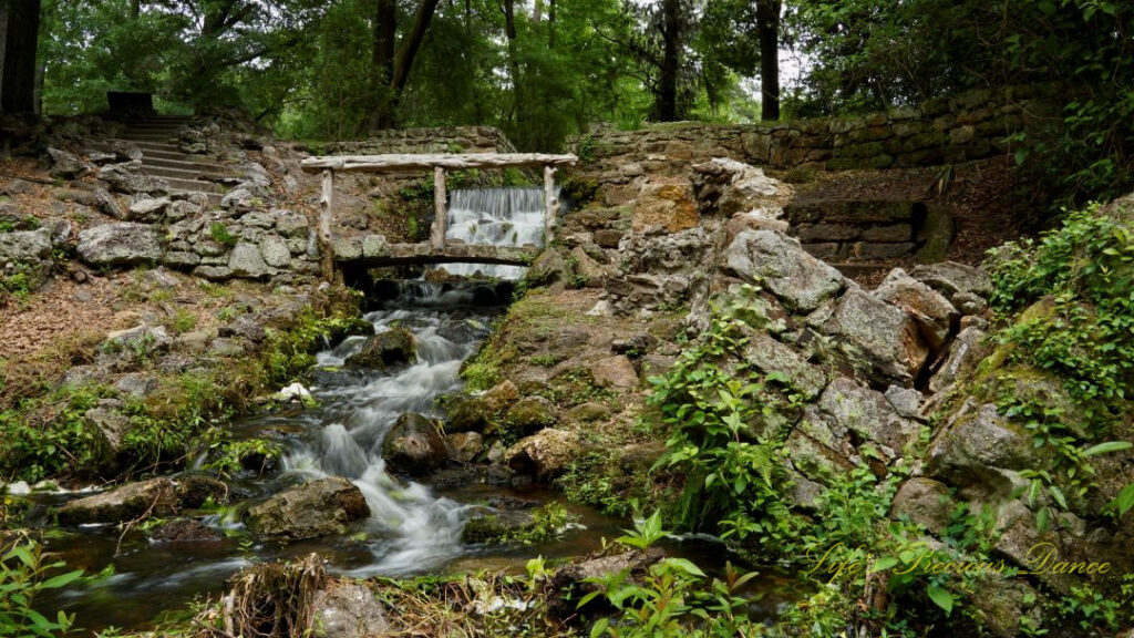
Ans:
{"type": "Polygon", "coordinates": [[[255,538],[302,540],[341,534],[370,515],[362,492],[340,477],[328,477],[287,489],[248,507],[244,519],[255,538]]]}

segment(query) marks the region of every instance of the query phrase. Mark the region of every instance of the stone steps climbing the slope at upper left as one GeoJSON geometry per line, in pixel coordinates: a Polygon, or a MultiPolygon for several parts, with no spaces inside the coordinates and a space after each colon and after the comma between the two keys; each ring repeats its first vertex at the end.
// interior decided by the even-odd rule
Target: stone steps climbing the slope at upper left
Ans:
{"type": "Polygon", "coordinates": [[[142,166],[169,183],[170,194],[201,193],[219,205],[228,188],[219,179],[231,178],[217,158],[191,154],[178,145],[178,131],[193,121],[189,116],[150,116],[132,119],[108,143],[128,142],[142,150],[142,166]]]}

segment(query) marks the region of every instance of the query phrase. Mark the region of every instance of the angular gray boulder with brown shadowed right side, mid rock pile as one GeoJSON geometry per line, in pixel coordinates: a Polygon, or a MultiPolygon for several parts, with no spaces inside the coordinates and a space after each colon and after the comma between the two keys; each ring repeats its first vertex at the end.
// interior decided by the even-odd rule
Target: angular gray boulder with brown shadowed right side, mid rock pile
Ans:
{"type": "Polygon", "coordinates": [[[929,358],[914,320],[857,286],[843,295],[823,331],[853,345],[871,364],[871,378],[881,383],[912,385],[929,358]]]}

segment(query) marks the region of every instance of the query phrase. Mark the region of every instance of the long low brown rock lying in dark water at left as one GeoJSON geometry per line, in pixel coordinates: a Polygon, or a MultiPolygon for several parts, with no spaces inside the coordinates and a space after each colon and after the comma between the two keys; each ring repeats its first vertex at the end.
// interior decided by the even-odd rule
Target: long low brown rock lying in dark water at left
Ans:
{"type": "Polygon", "coordinates": [[[104,494],[71,501],[59,509],[59,523],[118,523],[132,521],[149,513],[168,517],[177,506],[174,481],[156,478],[124,485],[104,494]]]}

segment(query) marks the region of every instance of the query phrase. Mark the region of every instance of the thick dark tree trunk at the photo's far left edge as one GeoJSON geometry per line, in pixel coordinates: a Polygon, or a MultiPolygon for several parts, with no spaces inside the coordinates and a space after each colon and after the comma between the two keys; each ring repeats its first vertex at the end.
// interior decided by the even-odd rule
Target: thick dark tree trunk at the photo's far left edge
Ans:
{"type": "Polygon", "coordinates": [[[40,36],[40,0],[0,0],[5,15],[0,111],[35,110],[35,49],[40,36]]]}

